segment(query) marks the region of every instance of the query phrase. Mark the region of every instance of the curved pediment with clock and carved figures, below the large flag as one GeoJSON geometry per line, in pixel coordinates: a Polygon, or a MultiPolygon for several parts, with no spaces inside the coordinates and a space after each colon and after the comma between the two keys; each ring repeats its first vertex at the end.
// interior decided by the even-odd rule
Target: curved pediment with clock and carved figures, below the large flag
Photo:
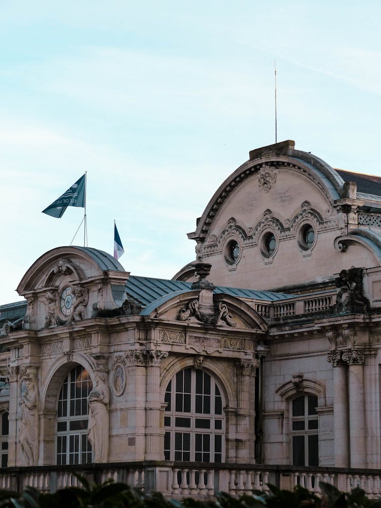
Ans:
{"type": "Polygon", "coordinates": [[[58,247],[25,273],[17,292],[27,299],[25,329],[69,325],[120,307],[129,273],[111,255],[90,247],[58,247]],[[119,301],[120,300],[120,301],[119,301]]]}

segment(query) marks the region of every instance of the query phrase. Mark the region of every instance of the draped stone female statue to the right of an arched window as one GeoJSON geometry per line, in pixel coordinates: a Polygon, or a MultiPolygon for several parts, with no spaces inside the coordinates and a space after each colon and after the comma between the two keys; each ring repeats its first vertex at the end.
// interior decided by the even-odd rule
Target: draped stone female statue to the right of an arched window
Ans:
{"type": "Polygon", "coordinates": [[[109,454],[109,409],[110,390],[106,372],[96,371],[95,386],[88,396],[89,419],[88,440],[94,462],[107,462],[109,454]]]}

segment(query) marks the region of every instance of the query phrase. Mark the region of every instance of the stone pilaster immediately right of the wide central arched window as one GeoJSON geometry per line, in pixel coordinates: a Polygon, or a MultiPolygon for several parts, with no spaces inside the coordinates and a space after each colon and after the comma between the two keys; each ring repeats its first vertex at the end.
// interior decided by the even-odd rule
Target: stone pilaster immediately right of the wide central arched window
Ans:
{"type": "Polygon", "coordinates": [[[240,359],[237,365],[236,461],[255,462],[255,375],[260,361],[240,359]]]}

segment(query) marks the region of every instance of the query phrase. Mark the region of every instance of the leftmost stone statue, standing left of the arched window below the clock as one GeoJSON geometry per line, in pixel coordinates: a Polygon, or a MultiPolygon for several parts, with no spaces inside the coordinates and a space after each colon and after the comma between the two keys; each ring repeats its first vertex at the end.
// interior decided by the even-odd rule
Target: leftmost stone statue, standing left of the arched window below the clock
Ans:
{"type": "Polygon", "coordinates": [[[23,461],[35,466],[38,461],[39,416],[37,379],[29,374],[21,378],[20,445],[23,461]]]}

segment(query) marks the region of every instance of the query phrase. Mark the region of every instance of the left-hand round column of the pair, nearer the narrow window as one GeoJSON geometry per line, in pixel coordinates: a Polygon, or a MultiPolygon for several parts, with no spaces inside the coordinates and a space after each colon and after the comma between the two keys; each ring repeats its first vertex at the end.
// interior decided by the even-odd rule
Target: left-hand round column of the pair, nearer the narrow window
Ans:
{"type": "Polygon", "coordinates": [[[347,366],[340,362],[340,353],[328,356],[333,368],[333,434],[335,466],[350,466],[350,442],[348,426],[347,366]]]}

